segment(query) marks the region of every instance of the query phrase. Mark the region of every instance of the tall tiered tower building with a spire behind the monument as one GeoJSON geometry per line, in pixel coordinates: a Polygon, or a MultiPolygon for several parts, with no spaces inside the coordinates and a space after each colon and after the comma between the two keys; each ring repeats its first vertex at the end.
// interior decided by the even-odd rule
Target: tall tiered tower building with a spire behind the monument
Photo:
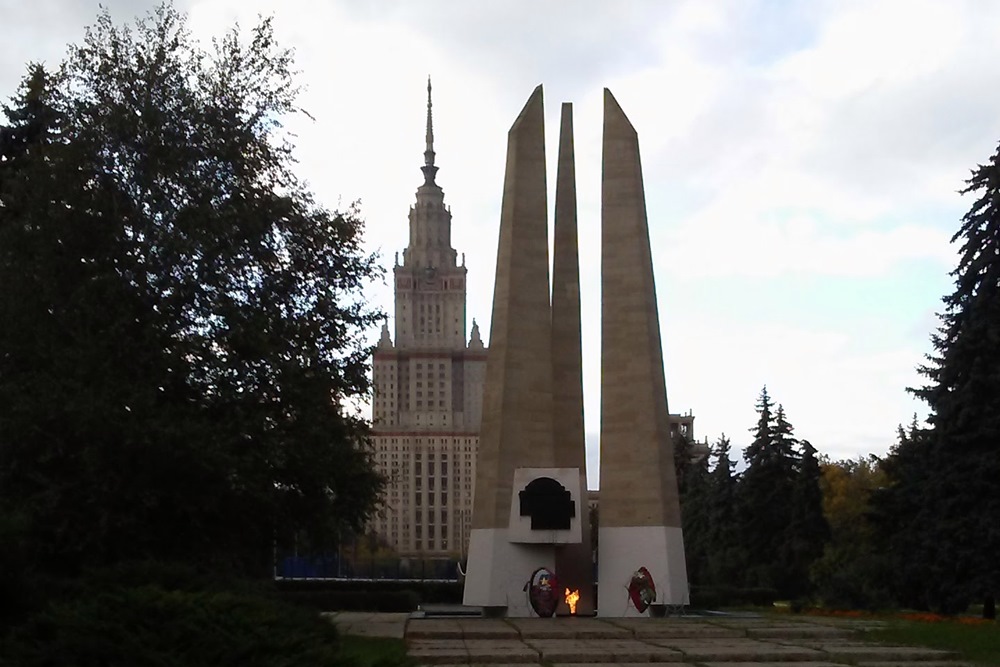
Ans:
{"type": "Polygon", "coordinates": [[[375,463],[388,483],[375,532],[402,556],[463,556],[468,546],[486,348],[466,340],[466,267],[451,247],[451,210],[437,185],[431,85],[423,184],[409,244],[393,268],[395,331],[373,360],[375,463]]]}

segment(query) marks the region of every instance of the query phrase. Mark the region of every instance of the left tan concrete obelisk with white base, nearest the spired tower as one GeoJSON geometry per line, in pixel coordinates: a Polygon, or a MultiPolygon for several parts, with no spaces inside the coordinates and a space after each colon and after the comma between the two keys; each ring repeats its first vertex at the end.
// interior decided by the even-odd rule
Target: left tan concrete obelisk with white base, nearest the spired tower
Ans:
{"type": "Polygon", "coordinates": [[[552,312],[549,303],[548,211],[542,87],[507,134],[493,319],[483,389],[476,491],[466,573],[466,605],[487,613],[528,616],[525,582],[555,567],[555,548],[525,543],[515,474],[551,468],[552,312]]]}

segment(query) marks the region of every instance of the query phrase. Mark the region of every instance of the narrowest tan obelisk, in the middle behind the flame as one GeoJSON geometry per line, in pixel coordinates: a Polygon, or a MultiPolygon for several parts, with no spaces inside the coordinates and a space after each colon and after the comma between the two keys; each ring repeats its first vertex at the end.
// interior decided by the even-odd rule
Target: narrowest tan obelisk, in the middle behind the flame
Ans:
{"type": "MultiPolygon", "coordinates": [[[[573,105],[564,102],[556,171],[555,240],[552,250],[552,392],[555,465],[579,468],[587,488],[587,445],[583,428],[583,352],[580,343],[580,258],[576,225],[576,166],[573,105]]],[[[581,507],[581,541],[561,546],[556,574],[562,589],[578,590],[578,615],[594,613],[594,569],[590,517],[581,507]]],[[[567,610],[568,611],[568,610],[567,610]]]]}

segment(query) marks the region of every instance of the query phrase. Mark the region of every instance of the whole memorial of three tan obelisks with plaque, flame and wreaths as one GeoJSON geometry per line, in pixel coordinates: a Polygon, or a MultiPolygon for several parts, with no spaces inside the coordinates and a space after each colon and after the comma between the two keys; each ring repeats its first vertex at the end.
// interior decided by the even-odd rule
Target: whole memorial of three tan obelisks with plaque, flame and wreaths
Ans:
{"type": "MultiPolygon", "coordinates": [[[[601,616],[688,600],[635,130],[605,90],[601,616]],[[657,588],[658,587],[658,588],[657,588]],[[621,593],[619,595],[618,593],[621,593]]],[[[464,603],[594,612],[586,492],[572,105],[562,106],[549,293],[542,87],[507,137],[464,603]]]]}

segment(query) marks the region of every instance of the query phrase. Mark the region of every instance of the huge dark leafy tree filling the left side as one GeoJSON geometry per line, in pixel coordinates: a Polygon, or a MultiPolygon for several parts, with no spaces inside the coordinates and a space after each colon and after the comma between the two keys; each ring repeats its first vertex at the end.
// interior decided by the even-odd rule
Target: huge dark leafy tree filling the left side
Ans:
{"type": "Polygon", "coordinates": [[[292,171],[270,21],[206,53],[185,20],[104,11],[6,110],[0,507],[50,571],[264,572],[275,540],[360,529],[379,492],[350,407],[380,316],[359,214],[292,171]]]}

